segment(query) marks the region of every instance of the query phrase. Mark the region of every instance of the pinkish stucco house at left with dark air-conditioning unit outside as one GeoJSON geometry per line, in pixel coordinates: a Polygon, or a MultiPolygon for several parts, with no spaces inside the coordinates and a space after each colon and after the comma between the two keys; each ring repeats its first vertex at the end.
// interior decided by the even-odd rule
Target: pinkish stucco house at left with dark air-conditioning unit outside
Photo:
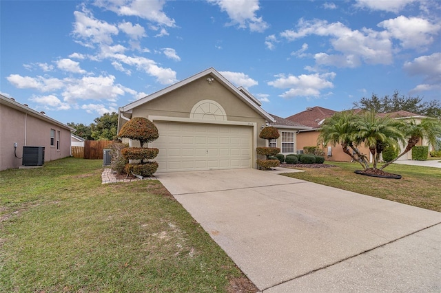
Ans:
{"type": "Polygon", "coordinates": [[[71,131],[43,112],[0,95],[0,170],[22,165],[23,146],[44,146],[45,162],[70,156],[71,131]]]}

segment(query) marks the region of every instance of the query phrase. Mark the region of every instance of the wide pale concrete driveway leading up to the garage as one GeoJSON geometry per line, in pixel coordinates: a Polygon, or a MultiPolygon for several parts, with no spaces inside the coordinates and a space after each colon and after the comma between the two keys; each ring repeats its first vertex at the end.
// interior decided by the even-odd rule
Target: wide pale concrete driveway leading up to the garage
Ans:
{"type": "Polygon", "coordinates": [[[261,292],[441,292],[441,213],[271,171],[156,177],[261,292]]]}

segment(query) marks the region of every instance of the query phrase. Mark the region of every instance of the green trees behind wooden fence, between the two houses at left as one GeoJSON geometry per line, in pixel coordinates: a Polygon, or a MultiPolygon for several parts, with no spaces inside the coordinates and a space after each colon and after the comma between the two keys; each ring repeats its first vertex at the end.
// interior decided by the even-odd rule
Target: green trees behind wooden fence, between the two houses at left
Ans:
{"type": "Polygon", "coordinates": [[[118,128],[118,113],[104,113],[103,116],[94,119],[94,123],[69,122],[68,126],[76,129],[75,135],[85,140],[115,140],[118,128]]]}

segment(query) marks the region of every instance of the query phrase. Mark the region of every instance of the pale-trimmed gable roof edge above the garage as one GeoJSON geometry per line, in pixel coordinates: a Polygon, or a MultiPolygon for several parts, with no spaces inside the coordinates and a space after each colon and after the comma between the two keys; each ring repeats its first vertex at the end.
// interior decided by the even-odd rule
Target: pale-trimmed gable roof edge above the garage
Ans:
{"type": "MultiPolygon", "coordinates": [[[[163,96],[164,94],[170,93],[171,91],[174,91],[175,89],[178,89],[179,87],[183,87],[184,85],[187,85],[189,83],[192,83],[194,80],[197,80],[198,78],[202,78],[204,76],[210,75],[212,76],[218,83],[222,84],[224,87],[229,89],[234,95],[236,95],[240,100],[243,100],[245,104],[249,105],[254,111],[260,114],[263,118],[266,120],[269,120],[270,122],[274,121],[274,118],[269,115],[264,109],[260,108],[260,105],[258,105],[258,102],[256,102],[256,98],[250,98],[248,94],[245,94],[240,89],[234,87],[232,83],[230,83],[225,77],[222,76],[219,72],[216,71],[213,67],[209,69],[205,69],[203,72],[199,72],[198,74],[195,74],[194,76],[190,76],[189,78],[185,78],[184,80],[179,81],[178,83],[175,83],[174,85],[170,85],[169,87],[165,87],[165,89],[161,89],[159,91],[156,91],[155,93],[145,96],[144,98],[141,98],[139,100],[136,100],[134,102],[131,102],[128,105],[125,105],[124,107],[119,108],[120,111],[123,112],[129,112],[135,107],[138,107],[139,105],[143,105],[145,102],[150,102],[151,100],[154,100],[156,98],[159,98],[160,96],[163,96]]],[[[250,94],[250,96],[252,96],[250,94]]]]}

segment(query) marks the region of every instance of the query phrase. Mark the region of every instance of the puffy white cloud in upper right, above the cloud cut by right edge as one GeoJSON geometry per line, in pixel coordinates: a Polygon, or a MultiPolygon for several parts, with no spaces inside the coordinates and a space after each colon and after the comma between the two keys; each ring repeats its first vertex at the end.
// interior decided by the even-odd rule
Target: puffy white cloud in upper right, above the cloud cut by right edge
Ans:
{"type": "Polygon", "coordinates": [[[433,43],[433,36],[441,30],[441,24],[433,24],[427,19],[400,16],[378,23],[391,37],[398,39],[404,48],[425,47],[433,43]]]}

